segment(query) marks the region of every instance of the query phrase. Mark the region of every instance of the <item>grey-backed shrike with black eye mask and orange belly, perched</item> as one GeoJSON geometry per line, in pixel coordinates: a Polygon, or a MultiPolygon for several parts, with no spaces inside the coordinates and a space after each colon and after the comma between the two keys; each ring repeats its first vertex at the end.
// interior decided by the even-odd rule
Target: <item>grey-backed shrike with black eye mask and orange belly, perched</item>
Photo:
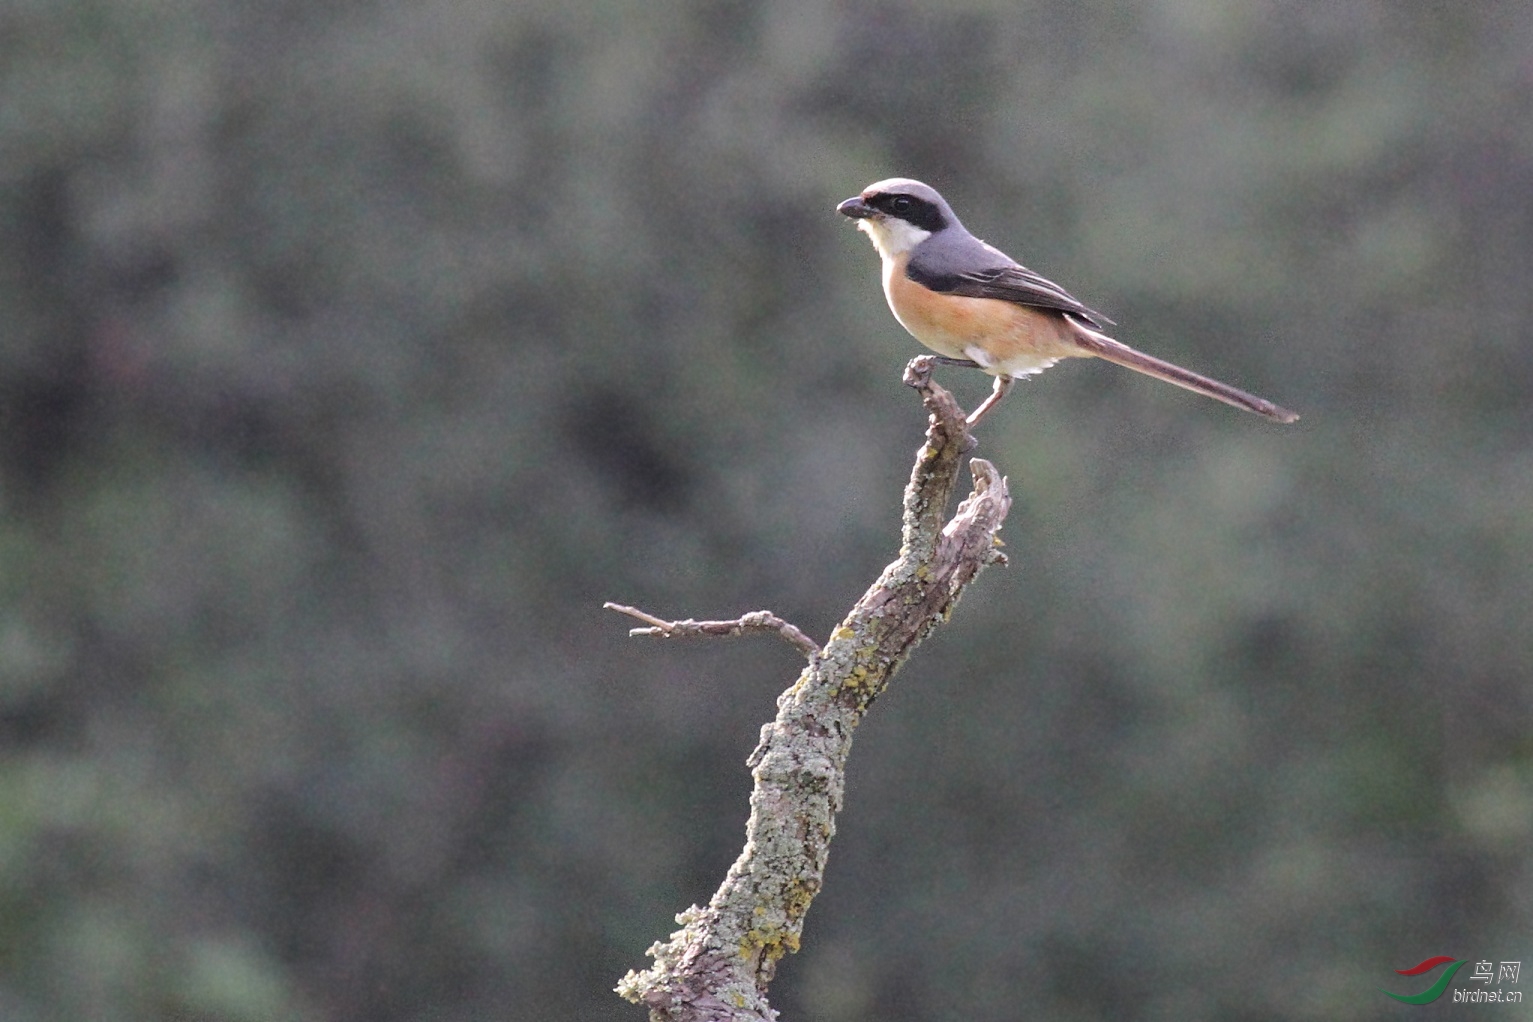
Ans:
{"type": "Polygon", "coordinates": [[[911,178],[875,181],[840,205],[872,239],[883,264],[883,294],[894,317],[946,365],[995,377],[977,424],[1006,397],[1016,377],[1061,359],[1096,357],[1203,394],[1279,423],[1298,418],[1272,401],[1162,362],[1108,337],[1096,310],[1047,277],[989,245],[958,221],[937,188],[911,178]]]}

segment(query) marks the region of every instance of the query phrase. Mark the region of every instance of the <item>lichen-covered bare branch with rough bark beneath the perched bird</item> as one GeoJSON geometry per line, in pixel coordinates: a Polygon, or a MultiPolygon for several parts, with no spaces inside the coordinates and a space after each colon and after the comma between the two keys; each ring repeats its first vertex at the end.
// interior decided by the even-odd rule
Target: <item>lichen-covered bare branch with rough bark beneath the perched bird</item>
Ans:
{"type": "MultiPolygon", "coordinates": [[[[915,359],[904,372],[931,412],[931,426],[904,489],[898,559],[777,697],[777,719],[762,728],[748,760],[756,788],[745,849],[724,884],[705,909],[693,906],[676,916],[681,929],[648,950],[652,968],[630,971],[618,984],[618,993],[648,1005],[655,1020],[776,1017],[766,985],[777,959],[799,950],[803,916],[820,890],[852,732],[975,575],[1004,562],[995,533],[1010,496],[989,461],[970,461],[973,490],[943,524],[973,441],[963,409],[932,383],[931,365],[915,359]]],[[[645,634],[673,634],[667,622],[642,619],[656,625],[645,634]]],[[[740,631],[721,627],[714,634],[740,631]]]]}

